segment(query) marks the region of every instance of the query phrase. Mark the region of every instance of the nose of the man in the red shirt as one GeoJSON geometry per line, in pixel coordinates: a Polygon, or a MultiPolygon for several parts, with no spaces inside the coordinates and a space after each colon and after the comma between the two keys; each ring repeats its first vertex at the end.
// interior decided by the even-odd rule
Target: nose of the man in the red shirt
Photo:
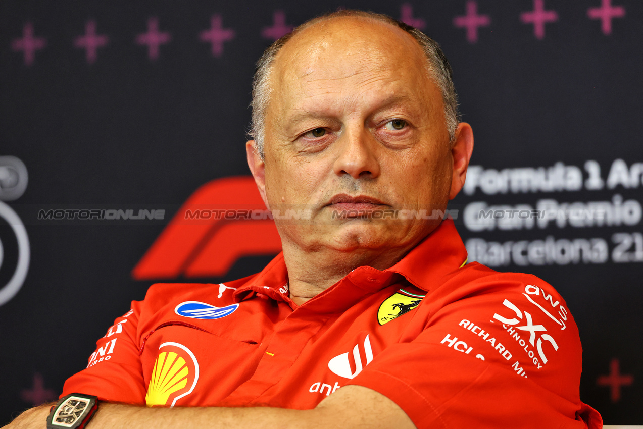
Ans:
{"type": "Polygon", "coordinates": [[[365,127],[356,127],[340,138],[338,157],[333,165],[336,175],[353,179],[375,179],[379,176],[377,141],[365,127]]]}

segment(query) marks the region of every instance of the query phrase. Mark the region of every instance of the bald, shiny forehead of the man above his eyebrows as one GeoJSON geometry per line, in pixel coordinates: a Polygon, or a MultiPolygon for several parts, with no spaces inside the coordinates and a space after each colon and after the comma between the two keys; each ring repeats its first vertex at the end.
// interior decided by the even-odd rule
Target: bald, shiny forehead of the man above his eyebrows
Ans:
{"type": "MultiPolygon", "coordinates": [[[[271,109],[306,109],[346,96],[421,98],[431,91],[424,53],[411,35],[386,22],[341,17],[301,31],[278,53],[271,109]],[[359,91],[356,91],[359,88],[359,91]]],[[[433,94],[431,94],[433,95],[433,94]]],[[[276,113],[276,112],[275,112],[276,113]]]]}

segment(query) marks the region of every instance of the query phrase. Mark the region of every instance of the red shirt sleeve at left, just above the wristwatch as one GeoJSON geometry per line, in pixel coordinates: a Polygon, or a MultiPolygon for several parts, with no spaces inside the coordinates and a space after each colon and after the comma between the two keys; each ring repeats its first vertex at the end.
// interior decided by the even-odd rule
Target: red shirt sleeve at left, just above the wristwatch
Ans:
{"type": "Polygon", "coordinates": [[[137,324],[140,302],[114,320],[105,336],[96,342],[87,368],[65,381],[62,396],[78,392],[101,401],[145,404],[145,381],[139,358],[137,324]]]}

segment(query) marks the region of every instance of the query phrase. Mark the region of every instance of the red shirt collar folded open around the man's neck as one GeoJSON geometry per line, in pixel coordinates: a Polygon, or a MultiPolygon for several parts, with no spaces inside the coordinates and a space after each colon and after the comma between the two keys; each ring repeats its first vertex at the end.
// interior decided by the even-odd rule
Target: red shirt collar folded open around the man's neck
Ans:
{"type": "MultiPolygon", "coordinates": [[[[368,271],[372,274],[381,273],[390,278],[390,273],[401,274],[414,286],[429,290],[441,277],[462,267],[467,260],[467,250],[455,229],[453,220],[445,219],[424,240],[415,246],[403,259],[383,272],[372,267],[359,267],[358,271],[368,271]]],[[[255,295],[265,296],[276,301],[291,302],[290,291],[287,288],[288,272],[284,262],[283,252],[278,254],[257,276],[237,288],[234,299],[244,301],[255,295]]],[[[385,287],[390,281],[382,283],[385,287]]]]}

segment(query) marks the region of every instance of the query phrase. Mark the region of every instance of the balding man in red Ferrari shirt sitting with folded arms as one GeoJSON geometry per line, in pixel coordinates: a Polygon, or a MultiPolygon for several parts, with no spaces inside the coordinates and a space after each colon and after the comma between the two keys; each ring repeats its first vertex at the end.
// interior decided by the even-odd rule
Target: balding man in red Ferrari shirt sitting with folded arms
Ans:
{"type": "Polygon", "coordinates": [[[65,384],[101,401],[89,428],[601,427],[563,299],[466,265],[433,215],[473,150],[437,44],[343,11],[259,66],[249,168],[269,209],[311,216],[276,220],[283,253],[260,274],[133,302],[65,384]]]}

